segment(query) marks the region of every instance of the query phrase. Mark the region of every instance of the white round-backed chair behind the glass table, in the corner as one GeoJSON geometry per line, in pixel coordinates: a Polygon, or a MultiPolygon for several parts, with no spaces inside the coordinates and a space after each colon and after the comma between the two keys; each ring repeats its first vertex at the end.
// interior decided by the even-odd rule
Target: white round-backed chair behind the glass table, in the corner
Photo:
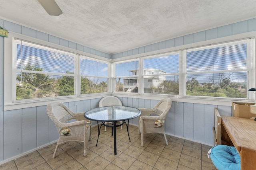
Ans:
{"type": "MultiPolygon", "coordinates": [[[[99,107],[104,107],[104,106],[123,106],[122,102],[120,99],[118,99],[115,96],[106,96],[104,98],[102,98],[99,102],[99,107]]],[[[111,123],[112,122],[104,122],[104,123],[111,123]]],[[[122,123],[122,121],[120,121],[120,123],[122,123]]],[[[121,129],[122,126],[121,126],[121,129]]],[[[107,131],[106,126],[105,126],[105,132],[107,131]]]]}

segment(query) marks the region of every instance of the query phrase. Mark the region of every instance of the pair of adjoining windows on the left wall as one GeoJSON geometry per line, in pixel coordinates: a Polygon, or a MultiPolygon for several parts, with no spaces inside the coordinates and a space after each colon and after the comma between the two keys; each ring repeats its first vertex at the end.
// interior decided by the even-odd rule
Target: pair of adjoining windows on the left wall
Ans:
{"type": "Polygon", "coordinates": [[[13,101],[108,92],[107,62],[19,39],[13,48],[13,101]]]}

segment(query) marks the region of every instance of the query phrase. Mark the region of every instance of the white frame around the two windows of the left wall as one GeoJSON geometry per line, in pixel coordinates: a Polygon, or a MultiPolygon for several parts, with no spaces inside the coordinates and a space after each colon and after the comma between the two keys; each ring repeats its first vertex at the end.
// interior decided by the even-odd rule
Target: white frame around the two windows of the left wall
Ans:
{"type": "MultiPolygon", "coordinates": [[[[49,101],[52,100],[57,100],[59,102],[70,102],[70,101],[78,101],[78,98],[82,99],[90,99],[90,98],[95,98],[94,96],[107,96],[110,94],[109,90],[109,85],[108,85],[108,92],[104,93],[92,93],[92,94],[82,94],[79,95],[78,90],[78,83],[77,80],[79,80],[79,72],[80,72],[80,60],[78,60],[79,55],[85,56],[89,60],[93,61],[100,61],[102,63],[108,64],[108,80],[110,77],[110,61],[111,59],[107,59],[104,57],[99,57],[90,53],[86,53],[83,51],[79,51],[77,49],[72,49],[69,47],[65,47],[62,45],[50,43],[48,41],[43,41],[40,39],[36,39],[33,37],[28,37],[24,35],[20,35],[17,33],[10,32],[8,34],[8,38],[4,39],[4,110],[11,110],[11,109],[19,109],[19,108],[26,108],[26,107],[31,107],[31,106],[42,106],[42,105],[47,105],[49,101]],[[42,45],[44,47],[50,47],[53,49],[57,49],[60,51],[64,51],[67,53],[73,53],[75,55],[74,58],[74,96],[57,96],[57,97],[47,97],[47,98],[36,98],[36,99],[28,99],[28,100],[16,100],[16,84],[14,83],[14,78],[15,77],[15,82],[16,82],[16,47],[14,48],[14,39],[20,39],[22,41],[26,41],[28,43],[32,43],[35,45],[42,45]],[[15,60],[14,60],[15,58],[15,60]],[[12,78],[10,78],[12,77],[12,78]],[[11,84],[11,86],[10,86],[11,84]],[[14,91],[15,90],[15,91],[14,91]],[[14,100],[15,99],[15,100],[14,100]]],[[[80,83],[80,82],[79,82],[80,83]]]]}

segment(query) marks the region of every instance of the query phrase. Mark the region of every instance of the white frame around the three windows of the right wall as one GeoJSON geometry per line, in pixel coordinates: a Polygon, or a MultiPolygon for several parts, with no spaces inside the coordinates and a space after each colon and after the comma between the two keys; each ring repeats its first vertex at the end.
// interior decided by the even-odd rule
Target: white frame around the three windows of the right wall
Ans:
{"type": "MultiPolygon", "coordinates": [[[[255,31],[255,35],[256,35],[256,31],[255,31]]],[[[230,39],[227,40],[226,37],[224,38],[219,38],[219,39],[214,39],[214,40],[208,40],[208,41],[205,41],[205,42],[199,42],[199,43],[192,43],[192,44],[188,44],[188,45],[181,45],[181,46],[178,46],[178,47],[172,47],[171,49],[164,49],[164,50],[158,50],[158,51],[153,51],[151,52],[152,54],[150,55],[144,55],[144,54],[141,54],[141,55],[136,55],[136,59],[139,59],[139,93],[138,95],[141,95],[143,96],[143,98],[151,98],[152,96],[154,97],[164,97],[164,96],[168,96],[174,100],[179,100],[179,101],[185,101],[185,102],[193,102],[192,103],[208,103],[208,104],[212,104],[212,102],[210,101],[215,101],[215,103],[219,103],[218,101],[221,101],[220,104],[223,104],[223,103],[228,103],[230,101],[240,101],[240,102],[243,102],[243,101],[251,101],[253,102],[254,101],[254,96],[255,94],[252,94],[250,92],[247,92],[247,98],[222,98],[222,97],[208,97],[208,96],[186,96],[186,50],[190,50],[190,49],[197,49],[197,48],[205,48],[207,46],[211,46],[211,45],[220,45],[220,46],[223,46],[223,44],[226,44],[226,43],[236,43],[237,41],[241,41],[241,40],[244,40],[244,39],[252,39],[252,44],[251,44],[251,47],[252,47],[252,50],[251,50],[251,53],[252,53],[252,69],[251,69],[251,72],[254,72],[255,73],[255,38],[253,36],[249,36],[249,37],[246,37],[244,38],[244,35],[233,35],[230,39]],[[207,42],[207,43],[206,43],[207,42]],[[161,51],[164,51],[162,53],[160,53],[161,51]],[[158,53],[157,53],[158,52],[158,53]],[[157,53],[157,54],[154,54],[154,53],[157,53]],[[141,73],[144,73],[144,70],[143,70],[143,59],[144,58],[147,58],[147,57],[157,57],[159,55],[166,55],[166,54],[169,54],[169,53],[180,53],[179,55],[179,72],[177,75],[179,75],[179,94],[178,95],[170,95],[170,94],[144,94],[143,93],[143,81],[142,81],[142,77],[144,75],[142,75],[141,73]]],[[[133,56],[131,57],[128,57],[128,59],[132,59],[133,56]]],[[[126,57],[127,58],[127,57],[126,57]]],[[[113,63],[116,63],[116,62],[126,62],[128,59],[126,60],[118,60],[118,59],[115,59],[113,60],[113,63]]],[[[247,59],[248,59],[248,56],[247,56],[247,59]]],[[[247,82],[248,83],[248,89],[249,88],[252,88],[255,86],[255,78],[254,80],[250,80],[250,82],[247,82]]],[[[115,92],[113,91],[113,93],[123,93],[123,92],[115,92]]],[[[124,94],[124,93],[123,93],[124,94]]],[[[131,95],[131,94],[127,94],[126,95],[131,95]]],[[[226,104],[228,105],[228,104],[226,104]]]]}

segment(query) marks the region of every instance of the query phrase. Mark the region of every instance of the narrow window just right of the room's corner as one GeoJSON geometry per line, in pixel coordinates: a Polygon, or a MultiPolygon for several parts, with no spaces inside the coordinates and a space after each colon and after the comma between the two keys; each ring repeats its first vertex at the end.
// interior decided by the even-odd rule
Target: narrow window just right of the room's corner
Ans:
{"type": "Polygon", "coordinates": [[[126,61],[115,64],[115,91],[138,93],[139,61],[126,61]]]}

